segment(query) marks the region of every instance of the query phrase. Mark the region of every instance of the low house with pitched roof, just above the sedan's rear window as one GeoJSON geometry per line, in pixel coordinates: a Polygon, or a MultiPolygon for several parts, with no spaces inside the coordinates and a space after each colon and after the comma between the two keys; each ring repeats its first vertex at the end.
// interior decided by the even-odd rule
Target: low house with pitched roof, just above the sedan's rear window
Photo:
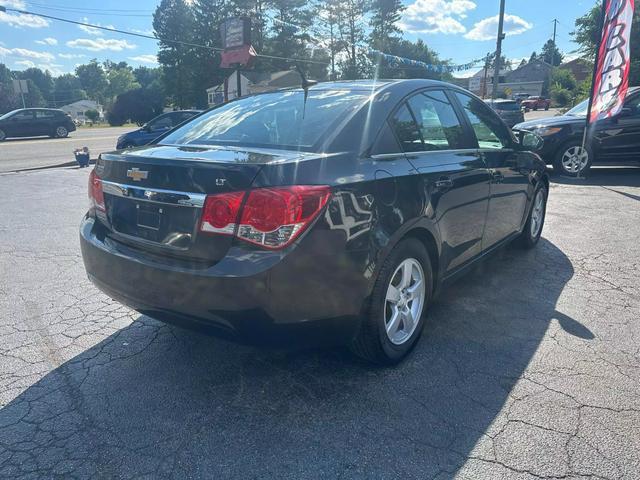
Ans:
{"type": "MultiPolygon", "coordinates": [[[[254,93],[270,92],[280,88],[298,87],[302,84],[300,74],[295,70],[282,70],[279,72],[240,72],[241,96],[254,93]]],[[[236,72],[233,72],[220,85],[207,88],[207,103],[209,107],[218,105],[238,97],[238,80],[236,72]],[[226,87],[225,87],[226,86],[226,87]],[[226,90],[226,92],[225,92],[226,90]]]]}

